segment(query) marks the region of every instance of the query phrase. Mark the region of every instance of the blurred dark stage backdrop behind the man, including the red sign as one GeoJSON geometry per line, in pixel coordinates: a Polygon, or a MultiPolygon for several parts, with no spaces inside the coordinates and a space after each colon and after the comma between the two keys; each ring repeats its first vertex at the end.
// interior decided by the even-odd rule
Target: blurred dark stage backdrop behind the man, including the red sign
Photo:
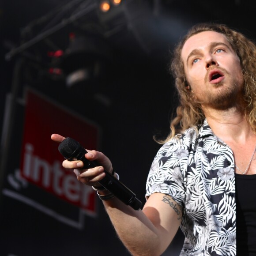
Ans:
{"type": "MultiPolygon", "coordinates": [[[[255,40],[249,0],[2,0],[0,255],[129,255],[94,191],[61,167],[52,133],[103,151],[145,203],[175,114],[174,45],[194,24],[255,40]]],[[[179,255],[183,236],[163,255],[179,255]]]]}

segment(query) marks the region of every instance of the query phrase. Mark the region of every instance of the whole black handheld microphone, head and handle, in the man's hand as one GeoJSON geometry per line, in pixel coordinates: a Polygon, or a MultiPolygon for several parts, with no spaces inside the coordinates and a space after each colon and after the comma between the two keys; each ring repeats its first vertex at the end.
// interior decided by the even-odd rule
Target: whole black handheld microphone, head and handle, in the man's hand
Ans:
{"type": "MultiPolygon", "coordinates": [[[[79,142],[75,141],[75,139],[69,137],[64,139],[60,143],[58,149],[60,154],[62,154],[68,161],[81,160],[84,165],[82,167],[83,169],[100,166],[97,161],[89,161],[85,158],[84,155],[87,151],[79,142]]],[[[104,170],[104,172],[106,174],[105,177],[98,182],[123,203],[131,206],[134,210],[139,210],[142,203],[136,198],[136,195],[108,171],[104,170]]]]}

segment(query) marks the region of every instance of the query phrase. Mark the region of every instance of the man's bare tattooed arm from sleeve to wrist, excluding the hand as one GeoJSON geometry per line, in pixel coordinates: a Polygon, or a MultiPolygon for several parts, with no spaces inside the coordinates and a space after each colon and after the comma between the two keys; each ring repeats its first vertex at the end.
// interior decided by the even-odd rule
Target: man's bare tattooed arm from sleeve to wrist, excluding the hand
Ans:
{"type": "Polygon", "coordinates": [[[117,199],[104,201],[104,205],[120,240],[134,256],[161,255],[181,223],[177,203],[161,193],[152,194],[142,211],[135,211],[117,199]]]}

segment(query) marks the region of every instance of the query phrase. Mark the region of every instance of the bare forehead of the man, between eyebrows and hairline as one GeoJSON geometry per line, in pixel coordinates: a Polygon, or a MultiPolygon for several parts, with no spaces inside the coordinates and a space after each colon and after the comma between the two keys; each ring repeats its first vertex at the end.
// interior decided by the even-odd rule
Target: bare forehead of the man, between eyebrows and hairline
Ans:
{"type": "Polygon", "coordinates": [[[195,49],[207,49],[207,47],[210,46],[212,42],[220,42],[225,43],[226,45],[230,45],[224,34],[215,31],[203,31],[188,38],[188,40],[184,43],[181,50],[182,60],[185,61],[189,53],[195,49]]]}

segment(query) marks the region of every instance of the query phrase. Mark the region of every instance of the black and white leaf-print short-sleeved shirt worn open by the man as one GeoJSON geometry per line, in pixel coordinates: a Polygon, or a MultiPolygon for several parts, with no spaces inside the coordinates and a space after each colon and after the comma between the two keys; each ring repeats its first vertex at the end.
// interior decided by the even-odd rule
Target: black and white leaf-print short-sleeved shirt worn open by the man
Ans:
{"type": "Polygon", "coordinates": [[[207,120],[165,143],[151,165],[146,197],[160,192],[183,208],[181,255],[236,255],[234,157],[207,120]]]}

